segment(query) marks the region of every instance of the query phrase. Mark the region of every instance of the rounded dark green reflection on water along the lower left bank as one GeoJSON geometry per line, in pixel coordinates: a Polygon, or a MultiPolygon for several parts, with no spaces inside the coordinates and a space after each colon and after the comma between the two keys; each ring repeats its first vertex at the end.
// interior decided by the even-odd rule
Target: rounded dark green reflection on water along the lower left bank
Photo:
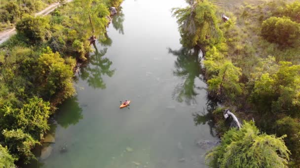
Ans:
{"type": "Polygon", "coordinates": [[[71,124],[75,125],[82,118],[82,108],[76,96],[66,100],[55,113],[55,120],[64,128],[68,128],[71,124]]]}

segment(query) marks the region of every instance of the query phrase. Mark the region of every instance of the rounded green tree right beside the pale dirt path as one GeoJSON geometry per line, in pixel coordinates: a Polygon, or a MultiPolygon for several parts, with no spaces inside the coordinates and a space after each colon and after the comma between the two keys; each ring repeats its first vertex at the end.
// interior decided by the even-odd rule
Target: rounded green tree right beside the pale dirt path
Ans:
{"type": "Polygon", "coordinates": [[[43,17],[27,15],[16,25],[17,32],[27,37],[31,43],[38,43],[46,38],[49,32],[49,21],[43,17]]]}

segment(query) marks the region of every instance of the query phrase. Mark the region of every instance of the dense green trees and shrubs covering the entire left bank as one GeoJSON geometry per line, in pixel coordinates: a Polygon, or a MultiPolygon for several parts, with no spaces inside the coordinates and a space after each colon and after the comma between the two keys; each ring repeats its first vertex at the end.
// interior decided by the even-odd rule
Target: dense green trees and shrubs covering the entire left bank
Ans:
{"type": "MultiPolygon", "coordinates": [[[[26,0],[26,4],[33,1],[39,2],[26,0]]],[[[0,4],[20,7],[23,2],[0,4]]],[[[33,17],[29,14],[39,9],[33,8],[15,18],[17,34],[0,46],[0,166],[14,167],[17,160],[35,159],[31,150],[49,130],[48,118],[75,93],[76,61],[87,59],[89,37],[106,39],[109,7],[120,3],[75,0],[51,16],[33,17]]]]}

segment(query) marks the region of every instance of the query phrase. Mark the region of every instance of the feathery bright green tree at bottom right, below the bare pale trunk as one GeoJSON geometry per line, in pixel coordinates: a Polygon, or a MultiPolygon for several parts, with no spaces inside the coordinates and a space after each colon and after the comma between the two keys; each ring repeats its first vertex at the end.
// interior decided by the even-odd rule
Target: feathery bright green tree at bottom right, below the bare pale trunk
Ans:
{"type": "Polygon", "coordinates": [[[261,134],[253,122],[230,129],[206,156],[212,168],[287,168],[290,151],[284,138],[261,134]]]}

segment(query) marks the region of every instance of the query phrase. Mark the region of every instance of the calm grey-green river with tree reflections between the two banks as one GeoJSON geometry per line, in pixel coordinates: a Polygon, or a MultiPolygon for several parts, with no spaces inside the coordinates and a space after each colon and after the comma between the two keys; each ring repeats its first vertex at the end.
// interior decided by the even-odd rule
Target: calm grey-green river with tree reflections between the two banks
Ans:
{"type": "MultiPolygon", "coordinates": [[[[39,168],[204,168],[213,136],[199,58],[180,44],[171,8],[185,0],[125,0],[108,40],[77,74],[54,116],[39,168]],[[119,101],[131,100],[119,109],[119,101]]],[[[200,54],[201,55],[201,54],[200,54]]],[[[200,56],[199,55],[199,56],[200,56]]]]}

